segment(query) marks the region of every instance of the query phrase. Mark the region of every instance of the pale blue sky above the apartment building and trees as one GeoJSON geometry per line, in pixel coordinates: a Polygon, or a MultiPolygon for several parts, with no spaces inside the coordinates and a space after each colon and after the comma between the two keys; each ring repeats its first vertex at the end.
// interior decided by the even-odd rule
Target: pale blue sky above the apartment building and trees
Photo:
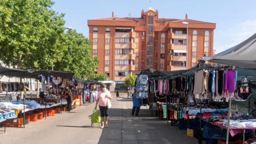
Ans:
{"type": "MultiPolygon", "coordinates": [[[[140,17],[150,0],[53,0],[52,9],[65,13],[65,26],[88,37],[88,19],[140,17]]],[[[214,50],[226,50],[256,33],[256,0],[151,0],[161,18],[189,19],[216,23],[214,50]]]]}

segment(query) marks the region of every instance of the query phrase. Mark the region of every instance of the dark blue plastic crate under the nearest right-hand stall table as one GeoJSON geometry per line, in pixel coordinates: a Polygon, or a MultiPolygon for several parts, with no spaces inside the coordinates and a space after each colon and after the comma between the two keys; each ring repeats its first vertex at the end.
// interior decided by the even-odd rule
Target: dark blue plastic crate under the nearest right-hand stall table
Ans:
{"type": "Polygon", "coordinates": [[[226,139],[226,132],[225,129],[220,129],[218,127],[206,126],[204,125],[203,129],[203,137],[207,139],[226,139]]]}

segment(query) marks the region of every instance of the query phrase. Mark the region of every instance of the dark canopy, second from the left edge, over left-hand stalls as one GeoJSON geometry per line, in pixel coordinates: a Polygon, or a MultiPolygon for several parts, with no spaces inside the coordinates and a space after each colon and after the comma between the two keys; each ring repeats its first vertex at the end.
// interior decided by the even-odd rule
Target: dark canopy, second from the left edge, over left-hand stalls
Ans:
{"type": "Polygon", "coordinates": [[[40,70],[40,71],[35,71],[34,73],[37,73],[43,76],[58,76],[58,77],[70,78],[70,79],[72,79],[74,76],[74,73],[68,73],[63,71],[51,71],[51,70],[40,70]]]}

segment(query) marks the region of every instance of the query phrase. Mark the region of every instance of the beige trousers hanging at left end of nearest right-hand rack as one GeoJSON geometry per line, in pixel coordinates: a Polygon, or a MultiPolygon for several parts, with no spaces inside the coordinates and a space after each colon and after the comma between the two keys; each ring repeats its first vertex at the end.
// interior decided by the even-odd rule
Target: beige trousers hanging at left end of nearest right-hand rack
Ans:
{"type": "Polygon", "coordinates": [[[199,97],[203,94],[203,81],[204,81],[204,71],[195,72],[195,81],[194,81],[194,95],[195,98],[199,99],[199,97]]]}

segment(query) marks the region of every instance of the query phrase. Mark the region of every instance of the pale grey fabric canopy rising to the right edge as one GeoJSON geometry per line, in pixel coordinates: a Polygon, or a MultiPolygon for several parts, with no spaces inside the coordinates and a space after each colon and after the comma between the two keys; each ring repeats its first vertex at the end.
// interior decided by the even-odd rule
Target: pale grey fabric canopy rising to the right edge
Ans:
{"type": "Polygon", "coordinates": [[[199,63],[209,61],[229,66],[256,68],[256,33],[247,40],[228,50],[215,54],[209,58],[201,58],[198,61],[199,63]]]}

